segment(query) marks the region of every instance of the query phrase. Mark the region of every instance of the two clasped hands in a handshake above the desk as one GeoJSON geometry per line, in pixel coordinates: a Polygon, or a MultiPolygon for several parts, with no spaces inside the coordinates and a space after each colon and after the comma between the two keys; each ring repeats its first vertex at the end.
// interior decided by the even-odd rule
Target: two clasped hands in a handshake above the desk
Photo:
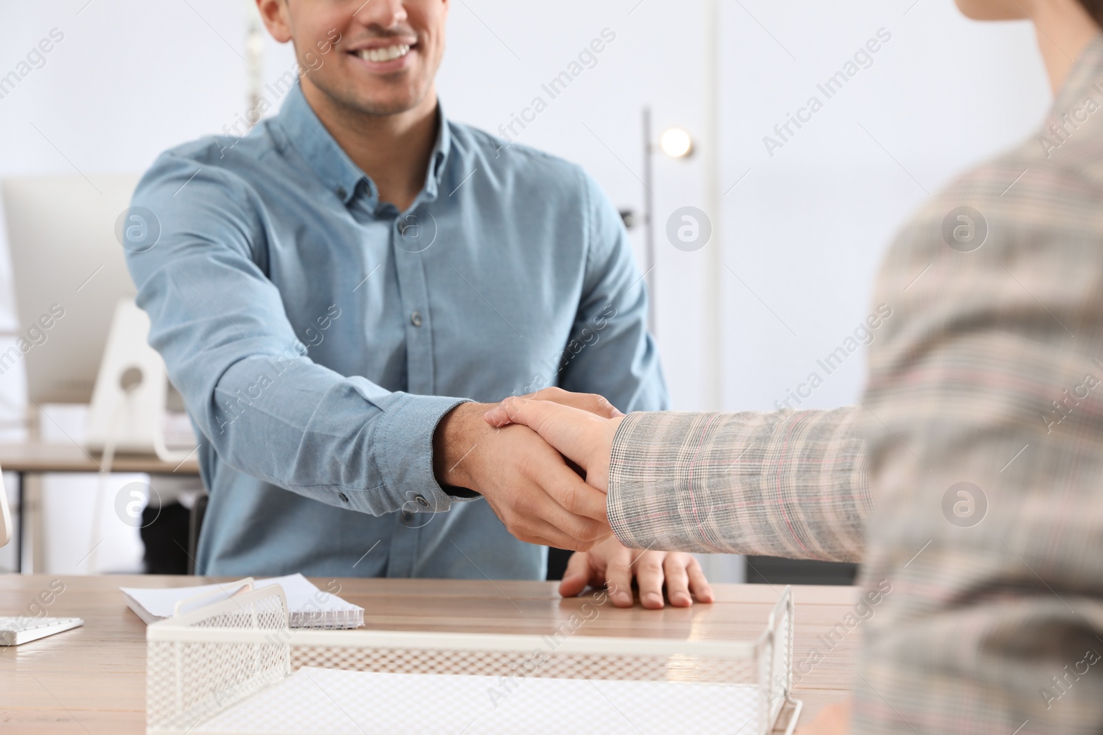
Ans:
{"type": "Polygon", "coordinates": [[[601,396],[546,388],[462,403],[433,436],[441,487],[478,493],[522,541],[587,551],[612,534],[609,454],[623,414],[601,396]]]}

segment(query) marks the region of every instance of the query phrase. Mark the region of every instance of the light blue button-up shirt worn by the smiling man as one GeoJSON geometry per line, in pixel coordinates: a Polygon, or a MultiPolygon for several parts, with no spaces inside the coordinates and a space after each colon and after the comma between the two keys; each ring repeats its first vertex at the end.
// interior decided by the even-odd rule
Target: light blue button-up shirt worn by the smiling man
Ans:
{"type": "Polygon", "coordinates": [[[667,408],[644,283],[595,182],[439,120],[403,213],[298,87],[138,185],[149,228],[127,262],[202,434],[200,573],[543,579],[545,548],[437,483],[440,419],[549,385],[667,408]]]}

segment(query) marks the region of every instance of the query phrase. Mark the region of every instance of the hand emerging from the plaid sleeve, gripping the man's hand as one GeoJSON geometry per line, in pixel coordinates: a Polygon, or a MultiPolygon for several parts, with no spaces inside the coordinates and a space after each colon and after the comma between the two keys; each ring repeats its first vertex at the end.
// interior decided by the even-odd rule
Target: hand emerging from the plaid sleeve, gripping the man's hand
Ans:
{"type": "MultiPolygon", "coordinates": [[[[566,393],[566,391],[559,392],[566,393]]],[[[540,399],[543,393],[545,391],[535,393],[531,399],[505,399],[486,411],[484,417],[486,423],[493,426],[506,426],[513,423],[533,429],[563,456],[581,467],[586,473],[587,483],[608,491],[609,455],[612,453],[613,434],[617,433],[617,426],[623,420],[623,414],[609,406],[608,401],[604,401],[604,404],[617,413],[612,418],[591,413],[590,409],[564,406],[558,400],[540,399]]],[[[581,398],[589,403],[593,402],[593,398],[600,398],[585,393],[567,393],[567,396],[581,398]]]]}

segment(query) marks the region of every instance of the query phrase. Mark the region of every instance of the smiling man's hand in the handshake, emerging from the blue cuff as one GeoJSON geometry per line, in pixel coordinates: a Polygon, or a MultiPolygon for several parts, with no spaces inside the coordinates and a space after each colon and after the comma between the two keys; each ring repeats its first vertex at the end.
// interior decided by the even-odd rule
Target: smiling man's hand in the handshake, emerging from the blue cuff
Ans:
{"type": "Polygon", "coordinates": [[[489,426],[483,414],[491,408],[461,403],[441,420],[433,435],[437,482],[482,495],[522,541],[585,551],[612,533],[604,494],[531,429],[489,426]]]}

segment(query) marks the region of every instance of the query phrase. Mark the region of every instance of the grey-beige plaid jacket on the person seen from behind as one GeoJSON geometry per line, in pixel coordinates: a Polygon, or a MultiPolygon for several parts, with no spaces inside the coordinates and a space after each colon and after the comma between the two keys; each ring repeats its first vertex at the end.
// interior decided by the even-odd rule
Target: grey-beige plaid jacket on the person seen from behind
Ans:
{"type": "Polygon", "coordinates": [[[634,413],[638,548],[860,560],[856,733],[1103,731],[1103,36],[882,264],[861,406],[634,413]]]}

